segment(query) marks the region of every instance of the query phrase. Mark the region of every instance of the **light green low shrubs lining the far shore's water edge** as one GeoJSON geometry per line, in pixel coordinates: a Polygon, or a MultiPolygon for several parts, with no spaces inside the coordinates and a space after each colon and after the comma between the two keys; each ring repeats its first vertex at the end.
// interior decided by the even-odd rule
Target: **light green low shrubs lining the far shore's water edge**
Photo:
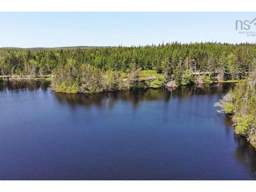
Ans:
{"type": "MultiPolygon", "coordinates": [[[[177,85],[176,80],[170,80],[165,82],[164,76],[158,74],[153,70],[137,70],[136,74],[125,74],[120,75],[120,79],[115,79],[115,76],[111,76],[113,73],[109,72],[103,78],[105,82],[102,82],[101,88],[95,88],[92,90],[84,91],[84,93],[95,93],[95,92],[104,92],[104,91],[121,91],[121,90],[131,90],[131,89],[157,89],[157,88],[166,88],[174,89],[180,86],[189,86],[192,84],[211,84],[216,82],[244,82],[245,79],[239,80],[212,80],[208,75],[198,75],[193,76],[189,75],[188,71],[185,71],[182,75],[182,79],[179,85],[177,85]]],[[[0,79],[3,80],[42,80],[53,82],[53,79],[56,78],[55,75],[41,75],[41,76],[19,76],[19,75],[8,75],[0,76],[0,79]]],[[[101,79],[102,80],[102,79],[101,79]]],[[[53,84],[52,83],[52,84],[53,84]]],[[[72,87],[67,87],[66,82],[62,82],[60,86],[53,89],[54,86],[51,86],[53,91],[61,93],[80,93],[78,84],[73,84],[72,87]]],[[[88,86],[89,87],[89,86],[88,86]]]]}

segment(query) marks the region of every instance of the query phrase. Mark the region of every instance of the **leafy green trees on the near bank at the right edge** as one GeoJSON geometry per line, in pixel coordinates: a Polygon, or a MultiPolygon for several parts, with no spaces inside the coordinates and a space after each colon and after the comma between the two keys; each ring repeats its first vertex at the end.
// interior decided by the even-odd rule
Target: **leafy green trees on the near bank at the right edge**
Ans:
{"type": "Polygon", "coordinates": [[[232,115],[235,132],[256,148],[256,70],[215,105],[221,108],[218,112],[232,115]]]}

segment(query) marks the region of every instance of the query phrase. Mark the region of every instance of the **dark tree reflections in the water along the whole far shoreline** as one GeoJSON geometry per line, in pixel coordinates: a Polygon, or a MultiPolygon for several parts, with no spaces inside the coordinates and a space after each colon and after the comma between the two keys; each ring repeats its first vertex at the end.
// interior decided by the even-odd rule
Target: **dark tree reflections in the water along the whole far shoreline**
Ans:
{"type": "MultiPolygon", "coordinates": [[[[55,93],[54,96],[60,103],[68,103],[72,108],[75,106],[84,106],[86,108],[92,105],[103,107],[106,105],[107,100],[109,108],[112,108],[114,104],[121,101],[129,101],[136,107],[140,101],[154,101],[158,99],[164,99],[168,102],[169,99],[188,98],[191,95],[205,95],[205,94],[218,94],[222,95],[234,86],[233,83],[217,83],[212,85],[199,84],[190,87],[182,87],[176,90],[132,90],[132,91],[116,91],[116,92],[103,92],[93,94],[63,94],[55,93]]],[[[0,91],[36,91],[41,89],[42,91],[50,91],[49,81],[35,81],[35,80],[12,80],[12,81],[0,81],[0,91]]]]}

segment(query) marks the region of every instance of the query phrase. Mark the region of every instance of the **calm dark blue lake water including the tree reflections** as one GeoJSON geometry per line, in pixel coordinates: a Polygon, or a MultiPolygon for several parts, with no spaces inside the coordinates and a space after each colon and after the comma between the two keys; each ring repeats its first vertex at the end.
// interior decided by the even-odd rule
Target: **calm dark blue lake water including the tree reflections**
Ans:
{"type": "Polygon", "coordinates": [[[0,179],[255,180],[255,149],[214,107],[232,87],[81,95],[0,81],[0,179]]]}

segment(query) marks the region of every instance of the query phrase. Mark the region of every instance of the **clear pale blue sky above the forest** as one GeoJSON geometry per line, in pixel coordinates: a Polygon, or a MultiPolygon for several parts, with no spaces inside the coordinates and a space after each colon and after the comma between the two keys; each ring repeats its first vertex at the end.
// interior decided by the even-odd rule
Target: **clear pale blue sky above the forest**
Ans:
{"type": "MultiPolygon", "coordinates": [[[[253,12],[0,12],[0,47],[256,42],[256,36],[236,30],[236,20],[255,17],[253,12]]],[[[256,32],[256,25],[248,31],[256,32]]]]}

